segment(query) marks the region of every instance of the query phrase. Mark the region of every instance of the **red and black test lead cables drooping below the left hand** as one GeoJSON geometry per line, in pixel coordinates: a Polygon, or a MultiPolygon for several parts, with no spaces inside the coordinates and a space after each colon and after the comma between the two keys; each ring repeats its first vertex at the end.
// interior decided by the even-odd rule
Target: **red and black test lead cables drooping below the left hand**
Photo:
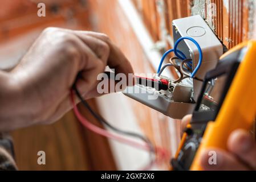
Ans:
{"type": "Polygon", "coordinates": [[[136,148],[141,148],[143,150],[148,150],[150,152],[150,157],[151,157],[151,162],[149,163],[149,165],[144,168],[143,170],[148,170],[150,169],[155,163],[156,163],[156,159],[152,157],[152,154],[155,154],[157,155],[158,153],[160,153],[162,155],[162,157],[164,158],[165,155],[166,155],[166,152],[164,150],[162,150],[161,148],[154,148],[152,143],[147,139],[147,138],[144,138],[143,136],[139,135],[139,134],[135,134],[135,133],[130,133],[130,132],[127,132],[127,131],[122,131],[122,130],[119,130],[117,129],[116,127],[113,127],[112,125],[110,125],[107,121],[105,121],[104,118],[100,117],[99,115],[97,115],[92,109],[91,107],[87,104],[86,101],[83,100],[81,94],[78,92],[78,89],[76,89],[76,87],[74,86],[74,89],[75,89],[75,92],[76,94],[78,95],[79,99],[82,100],[84,106],[86,106],[86,108],[91,112],[92,115],[94,115],[94,117],[97,119],[97,121],[100,121],[101,123],[104,123],[105,125],[107,125],[109,128],[111,128],[112,130],[115,130],[116,132],[118,133],[121,133],[121,134],[125,134],[125,135],[129,135],[131,137],[136,137],[136,138],[139,138],[141,140],[143,140],[145,143],[147,143],[146,145],[145,144],[141,144],[141,143],[137,143],[133,140],[129,140],[129,139],[126,139],[126,138],[123,138],[123,137],[120,137],[119,135],[114,135],[114,134],[111,134],[109,133],[108,131],[106,130],[103,130],[95,125],[92,125],[92,123],[88,122],[87,119],[85,119],[82,114],[80,114],[79,110],[78,110],[78,107],[75,105],[75,102],[74,102],[74,98],[72,97],[73,96],[73,90],[71,90],[71,101],[72,101],[72,104],[73,104],[73,107],[74,107],[74,112],[76,114],[76,117],[79,119],[79,121],[85,126],[87,127],[87,129],[91,130],[91,131],[94,131],[94,133],[97,133],[99,135],[102,135],[104,137],[108,137],[108,138],[111,138],[111,139],[116,139],[118,140],[119,142],[123,142],[125,144],[129,144],[130,146],[133,146],[133,147],[136,147],[136,148]]]}

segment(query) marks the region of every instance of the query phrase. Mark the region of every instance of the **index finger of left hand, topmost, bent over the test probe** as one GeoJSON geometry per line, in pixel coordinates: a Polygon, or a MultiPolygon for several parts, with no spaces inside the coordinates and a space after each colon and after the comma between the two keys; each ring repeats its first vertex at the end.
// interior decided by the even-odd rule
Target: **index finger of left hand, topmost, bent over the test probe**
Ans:
{"type": "Polygon", "coordinates": [[[129,73],[134,73],[131,63],[129,63],[128,59],[124,56],[120,49],[115,46],[106,35],[96,32],[86,32],[86,35],[93,36],[108,44],[110,48],[108,65],[110,68],[115,69],[116,73],[124,73],[126,76],[128,76],[129,73]]]}

